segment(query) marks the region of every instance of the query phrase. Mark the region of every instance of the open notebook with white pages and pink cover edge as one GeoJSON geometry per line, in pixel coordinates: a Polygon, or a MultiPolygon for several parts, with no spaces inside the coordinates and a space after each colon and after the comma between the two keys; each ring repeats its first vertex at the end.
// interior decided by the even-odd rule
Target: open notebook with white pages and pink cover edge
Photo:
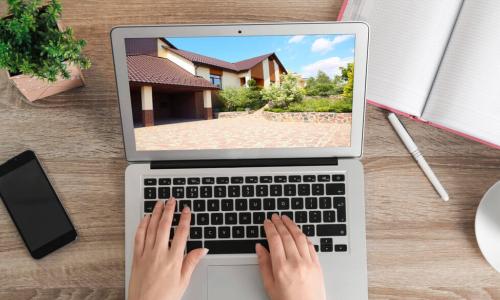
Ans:
{"type": "Polygon", "coordinates": [[[338,20],[370,25],[368,103],[500,149],[498,15],[498,0],[345,0],[338,20]]]}

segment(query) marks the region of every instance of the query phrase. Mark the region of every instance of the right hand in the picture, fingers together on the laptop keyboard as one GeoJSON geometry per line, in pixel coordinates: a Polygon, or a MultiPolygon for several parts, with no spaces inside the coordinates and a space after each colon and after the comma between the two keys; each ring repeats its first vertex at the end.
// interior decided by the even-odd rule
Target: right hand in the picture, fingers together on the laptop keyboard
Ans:
{"type": "Polygon", "coordinates": [[[264,288],[271,300],[323,300],[325,283],[314,246],[287,216],[274,214],[264,228],[269,250],[255,251],[264,288]]]}

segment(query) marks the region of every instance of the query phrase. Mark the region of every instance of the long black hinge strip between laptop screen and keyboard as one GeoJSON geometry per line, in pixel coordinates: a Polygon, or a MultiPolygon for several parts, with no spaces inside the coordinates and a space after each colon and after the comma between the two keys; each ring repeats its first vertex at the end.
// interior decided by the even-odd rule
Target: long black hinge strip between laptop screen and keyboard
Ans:
{"type": "Polygon", "coordinates": [[[262,158],[262,159],[207,159],[152,161],[151,169],[199,169],[284,166],[336,166],[336,157],[262,158]]]}

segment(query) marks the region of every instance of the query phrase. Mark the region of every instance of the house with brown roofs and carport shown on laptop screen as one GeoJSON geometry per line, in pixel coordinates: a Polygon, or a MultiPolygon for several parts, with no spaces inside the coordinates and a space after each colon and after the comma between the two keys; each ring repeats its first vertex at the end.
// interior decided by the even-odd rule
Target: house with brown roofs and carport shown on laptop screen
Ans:
{"type": "Polygon", "coordinates": [[[231,63],[178,49],[164,38],[126,39],[125,49],[136,126],[212,119],[218,90],[250,79],[267,87],[287,72],[275,53],[231,63]]]}

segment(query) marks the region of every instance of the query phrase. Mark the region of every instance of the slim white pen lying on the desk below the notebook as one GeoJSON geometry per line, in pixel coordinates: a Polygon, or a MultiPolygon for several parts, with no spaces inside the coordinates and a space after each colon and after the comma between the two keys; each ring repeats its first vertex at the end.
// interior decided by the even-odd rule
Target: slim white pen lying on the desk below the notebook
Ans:
{"type": "Polygon", "coordinates": [[[439,182],[439,180],[437,179],[431,167],[429,167],[429,164],[427,164],[427,161],[425,161],[425,158],[422,156],[422,153],[420,153],[417,145],[415,144],[411,136],[408,134],[408,131],[406,131],[403,124],[401,124],[398,117],[394,113],[389,113],[387,115],[387,118],[389,119],[389,122],[391,123],[392,127],[394,127],[396,133],[399,135],[399,138],[401,138],[401,141],[403,141],[403,144],[406,146],[406,149],[408,149],[413,158],[417,161],[417,164],[420,166],[422,171],[424,171],[425,176],[427,176],[427,179],[429,179],[429,181],[436,189],[436,192],[438,192],[439,196],[441,196],[441,198],[444,201],[448,201],[450,199],[448,193],[441,185],[441,182],[439,182]]]}

